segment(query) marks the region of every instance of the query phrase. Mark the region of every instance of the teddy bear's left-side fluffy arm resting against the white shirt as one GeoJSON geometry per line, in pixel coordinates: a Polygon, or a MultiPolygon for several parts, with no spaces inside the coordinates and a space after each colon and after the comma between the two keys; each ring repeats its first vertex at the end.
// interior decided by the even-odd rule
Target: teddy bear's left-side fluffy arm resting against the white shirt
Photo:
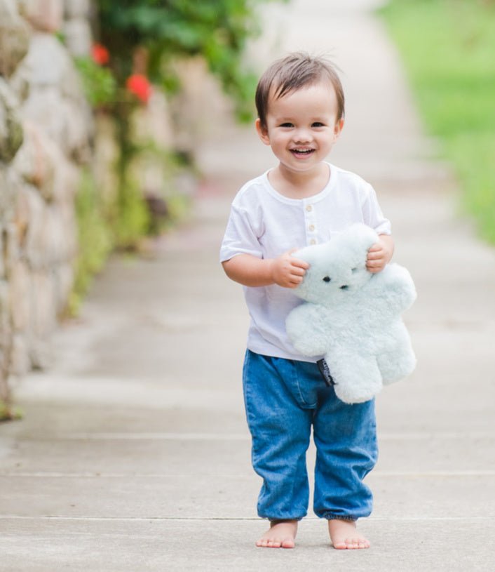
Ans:
{"type": "Polygon", "coordinates": [[[325,307],[305,303],[294,308],[287,316],[287,335],[294,348],[304,356],[318,356],[327,352],[329,340],[325,310],[325,307]]]}

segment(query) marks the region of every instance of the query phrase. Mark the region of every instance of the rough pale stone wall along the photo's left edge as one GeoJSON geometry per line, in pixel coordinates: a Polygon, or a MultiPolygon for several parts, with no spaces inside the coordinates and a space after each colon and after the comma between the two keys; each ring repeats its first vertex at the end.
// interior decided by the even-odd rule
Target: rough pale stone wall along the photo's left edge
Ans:
{"type": "Polygon", "coordinates": [[[93,119],[66,45],[88,53],[89,0],[0,0],[0,400],[50,364],[74,278],[74,197],[93,119]]]}

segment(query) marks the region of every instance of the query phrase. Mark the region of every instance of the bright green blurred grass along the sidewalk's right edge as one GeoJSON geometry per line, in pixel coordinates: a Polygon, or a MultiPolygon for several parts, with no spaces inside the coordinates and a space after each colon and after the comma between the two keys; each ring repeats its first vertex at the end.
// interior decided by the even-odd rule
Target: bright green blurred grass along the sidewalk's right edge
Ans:
{"type": "Polygon", "coordinates": [[[495,1],[391,0],[381,14],[463,206],[495,244],[495,1]]]}

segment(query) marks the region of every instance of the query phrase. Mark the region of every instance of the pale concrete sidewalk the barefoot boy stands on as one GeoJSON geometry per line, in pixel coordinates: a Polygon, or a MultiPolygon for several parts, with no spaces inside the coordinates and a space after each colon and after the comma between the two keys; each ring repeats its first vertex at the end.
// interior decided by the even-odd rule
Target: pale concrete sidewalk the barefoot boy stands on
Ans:
{"type": "Polygon", "coordinates": [[[419,291],[406,316],[418,368],[377,403],[371,550],[332,550],[311,516],[296,550],[254,546],[266,524],[240,387],[248,319],[217,251],[233,194],[273,159],[216,105],[194,220],[154,260],[114,258],[60,329],[52,371],[18,385],[25,418],[0,426],[2,572],[493,569],[495,251],[455,215],[372,4],[269,5],[251,55],[263,67],[334,48],[348,107],[331,160],[374,184],[419,291]]]}

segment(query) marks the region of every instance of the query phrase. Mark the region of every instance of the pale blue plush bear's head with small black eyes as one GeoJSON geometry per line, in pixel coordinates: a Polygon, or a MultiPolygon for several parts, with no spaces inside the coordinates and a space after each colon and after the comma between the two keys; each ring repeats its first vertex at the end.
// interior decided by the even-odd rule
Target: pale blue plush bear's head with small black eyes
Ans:
{"type": "Polygon", "coordinates": [[[377,241],[378,234],[371,228],[352,225],[329,243],[294,252],[310,265],[294,294],[320,305],[348,298],[372,278],[366,270],[367,252],[377,241]]]}

